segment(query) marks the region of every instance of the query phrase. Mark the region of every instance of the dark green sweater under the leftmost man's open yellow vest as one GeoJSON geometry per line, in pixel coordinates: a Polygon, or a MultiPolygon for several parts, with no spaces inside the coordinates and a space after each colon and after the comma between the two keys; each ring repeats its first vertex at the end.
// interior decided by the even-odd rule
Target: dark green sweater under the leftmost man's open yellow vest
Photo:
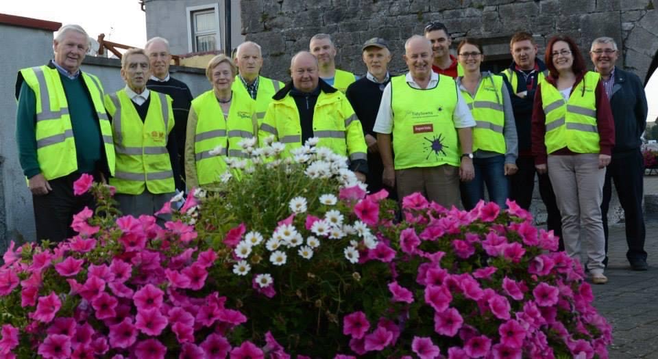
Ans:
{"type": "MultiPolygon", "coordinates": [[[[82,75],[69,79],[60,74],[60,79],[66,93],[66,102],[69,104],[77,152],[77,172],[94,172],[103,168],[99,163],[103,157],[103,142],[93,103],[82,75]]],[[[21,85],[16,112],[16,142],[19,145],[19,161],[23,174],[27,178],[40,174],[41,168],[36,157],[36,95],[25,82],[21,85]]]]}

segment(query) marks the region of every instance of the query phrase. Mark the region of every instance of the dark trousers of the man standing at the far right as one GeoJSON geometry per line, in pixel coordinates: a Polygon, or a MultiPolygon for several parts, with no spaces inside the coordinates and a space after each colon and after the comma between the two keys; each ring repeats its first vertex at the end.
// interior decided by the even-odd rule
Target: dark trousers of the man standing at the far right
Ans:
{"type": "Polygon", "coordinates": [[[608,220],[607,214],[612,196],[612,182],[615,183],[619,203],[624,209],[626,243],[629,250],[626,258],[630,262],[646,261],[644,251],[644,215],[642,214],[642,196],[644,190],[644,160],[639,149],[614,155],[605,172],[603,185],[603,202],[601,215],[603,217],[603,232],[605,235],[605,253],[608,253],[608,220]]]}

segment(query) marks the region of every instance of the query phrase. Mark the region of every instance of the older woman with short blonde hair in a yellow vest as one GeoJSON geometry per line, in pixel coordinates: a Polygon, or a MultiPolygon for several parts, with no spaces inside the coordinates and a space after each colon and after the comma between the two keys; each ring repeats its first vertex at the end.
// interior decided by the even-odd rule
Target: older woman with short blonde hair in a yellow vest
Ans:
{"type": "Polygon", "coordinates": [[[228,169],[226,157],[248,159],[239,143],[257,132],[256,101],[246,92],[231,90],[237,67],[230,57],[217,55],[206,67],[212,90],[192,101],[187,120],[185,174],[188,189],[219,191],[219,177],[228,169]]]}

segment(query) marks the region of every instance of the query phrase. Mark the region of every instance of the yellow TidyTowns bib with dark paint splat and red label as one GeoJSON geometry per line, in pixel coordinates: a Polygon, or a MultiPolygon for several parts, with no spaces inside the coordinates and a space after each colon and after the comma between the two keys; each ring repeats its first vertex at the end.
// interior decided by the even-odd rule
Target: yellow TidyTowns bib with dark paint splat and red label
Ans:
{"type": "Polygon", "coordinates": [[[452,114],[457,105],[452,77],[439,75],[432,89],[415,89],[404,75],[391,79],[395,169],[459,166],[459,141],[452,114]]]}

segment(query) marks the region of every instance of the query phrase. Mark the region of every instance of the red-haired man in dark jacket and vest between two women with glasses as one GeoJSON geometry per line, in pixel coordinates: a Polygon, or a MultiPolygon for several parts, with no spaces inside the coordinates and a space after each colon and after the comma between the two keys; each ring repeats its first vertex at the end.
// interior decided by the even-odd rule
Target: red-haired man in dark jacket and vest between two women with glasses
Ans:
{"type": "MultiPolygon", "coordinates": [[[[531,122],[533,101],[537,83],[548,75],[546,64],[537,58],[537,43],[532,34],[519,31],[509,42],[513,62],[500,75],[507,78],[512,87],[511,102],[519,140],[519,157],[516,160],[518,172],[509,178],[509,198],[523,209],[530,209],[535,189],[535,158],[531,146],[531,122]]],[[[562,243],[562,219],[557,208],[555,192],[550,185],[548,174],[537,174],[539,195],[546,206],[546,227],[560,237],[562,243]]]]}

